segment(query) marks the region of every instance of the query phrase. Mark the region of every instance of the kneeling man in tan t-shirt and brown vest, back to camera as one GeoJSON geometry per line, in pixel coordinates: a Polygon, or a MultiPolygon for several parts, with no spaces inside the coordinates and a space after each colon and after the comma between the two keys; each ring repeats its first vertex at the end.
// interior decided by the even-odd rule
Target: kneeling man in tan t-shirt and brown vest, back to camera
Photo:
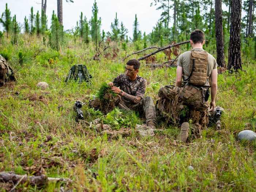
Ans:
{"type": "MultiPolygon", "coordinates": [[[[197,137],[208,125],[209,105],[207,100],[210,96],[210,85],[210,110],[216,106],[218,65],[214,57],[203,50],[205,43],[203,31],[192,31],[190,43],[192,50],[181,54],[177,61],[176,86],[167,85],[159,90],[160,99],[157,101],[156,107],[162,114],[169,113],[174,123],[177,123],[180,120],[180,112],[186,105],[189,109],[189,118],[193,122],[191,132],[197,137]]],[[[177,139],[186,142],[188,129],[188,122],[182,123],[177,139]]]]}

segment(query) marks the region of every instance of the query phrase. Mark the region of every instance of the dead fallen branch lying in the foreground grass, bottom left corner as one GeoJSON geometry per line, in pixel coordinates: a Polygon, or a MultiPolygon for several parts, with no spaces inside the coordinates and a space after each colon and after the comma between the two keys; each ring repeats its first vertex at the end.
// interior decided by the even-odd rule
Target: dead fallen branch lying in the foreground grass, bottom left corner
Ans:
{"type": "MultiPolygon", "coordinates": [[[[64,182],[71,182],[69,178],[53,178],[47,177],[45,175],[41,176],[27,176],[27,175],[18,175],[14,173],[7,173],[7,172],[0,172],[0,182],[12,182],[14,184],[23,184],[28,182],[31,185],[44,185],[46,182],[57,182],[57,181],[64,181],[64,182]]],[[[15,185],[15,187],[17,187],[15,185]]]]}

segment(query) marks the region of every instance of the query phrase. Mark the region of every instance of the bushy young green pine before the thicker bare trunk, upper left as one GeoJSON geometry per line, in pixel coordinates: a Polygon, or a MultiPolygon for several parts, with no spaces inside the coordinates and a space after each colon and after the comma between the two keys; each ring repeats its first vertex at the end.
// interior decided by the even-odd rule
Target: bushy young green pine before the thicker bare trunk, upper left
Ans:
{"type": "Polygon", "coordinates": [[[63,26],[60,25],[57,16],[53,12],[50,33],[50,45],[53,49],[60,50],[60,45],[63,42],[63,35],[63,26]]]}

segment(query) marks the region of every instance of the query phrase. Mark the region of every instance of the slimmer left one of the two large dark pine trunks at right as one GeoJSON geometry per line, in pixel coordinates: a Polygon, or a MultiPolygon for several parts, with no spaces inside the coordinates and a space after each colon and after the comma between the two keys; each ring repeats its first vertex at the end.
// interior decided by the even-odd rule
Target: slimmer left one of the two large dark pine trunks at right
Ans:
{"type": "Polygon", "coordinates": [[[223,45],[222,31],[222,0],[215,0],[215,31],[216,31],[216,47],[217,47],[217,64],[219,67],[226,68],[223,45]]]}

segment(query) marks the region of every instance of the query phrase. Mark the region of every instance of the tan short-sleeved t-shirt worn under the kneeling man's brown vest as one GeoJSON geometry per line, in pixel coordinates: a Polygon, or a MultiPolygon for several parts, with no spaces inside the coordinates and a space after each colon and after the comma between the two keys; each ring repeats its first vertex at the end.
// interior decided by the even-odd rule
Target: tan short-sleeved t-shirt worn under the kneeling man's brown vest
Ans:
{"type": "MultiPolygon", "coordinates": [[[[195,48],[192,50],[195,50],[198,52],[204,51],[203,49],[199,49],[199,48],[195,48]]],[[[190,67],[189,67],[190,56],[191,56],[191,51],[186,51],[178,57],[177,65],[183,68],[183,74],[182,74],[183,80],[188,79],[190,75],[190,67]]],[[[210,53],[208,53],[207,76],[210,77],[212,70],[216,69],[217,67],[218,67],[218,64],[215,58],[210,53]]],[[[204,86],[210,86],[209,79],[206,79],[206,83],[204,86]]]]}

